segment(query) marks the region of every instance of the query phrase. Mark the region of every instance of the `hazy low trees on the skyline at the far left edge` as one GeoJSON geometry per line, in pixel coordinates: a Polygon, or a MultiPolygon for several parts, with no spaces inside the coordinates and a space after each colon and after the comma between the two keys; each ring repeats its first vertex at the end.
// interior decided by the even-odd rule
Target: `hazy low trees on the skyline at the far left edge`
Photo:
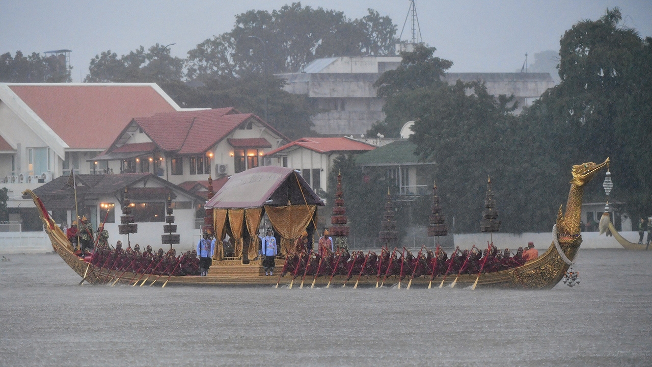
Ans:
{"type": "Polygon", "coordinates": [[[37,52],[25,57],[20,51],[12,57],[9,52],[0,55],[0,82],[60,83],[70,82],[70,70],[59,56],[40,56],[37,52]]]}

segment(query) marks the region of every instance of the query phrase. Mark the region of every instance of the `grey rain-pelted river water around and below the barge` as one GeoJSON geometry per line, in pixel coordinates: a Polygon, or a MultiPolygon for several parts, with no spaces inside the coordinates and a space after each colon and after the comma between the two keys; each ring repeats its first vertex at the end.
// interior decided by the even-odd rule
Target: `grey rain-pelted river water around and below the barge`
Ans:
{"type": "Polygon", "coordinates": [[[580,249],[580,285],[78,287],[0,263],[0,366],[651,366],[652,251],[580,249]]]}

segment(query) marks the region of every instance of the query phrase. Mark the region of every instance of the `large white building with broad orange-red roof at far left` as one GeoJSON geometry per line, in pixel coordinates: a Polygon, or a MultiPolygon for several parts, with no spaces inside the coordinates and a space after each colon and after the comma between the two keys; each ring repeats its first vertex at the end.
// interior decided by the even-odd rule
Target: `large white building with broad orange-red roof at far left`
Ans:
{"type": "Polygon", "coordinates": [[[0,150],[0,180],[97,172],[87,159],[132,118],[179,110],[153,83],[0,83],[0,138],[11,148],[0,150]]]}

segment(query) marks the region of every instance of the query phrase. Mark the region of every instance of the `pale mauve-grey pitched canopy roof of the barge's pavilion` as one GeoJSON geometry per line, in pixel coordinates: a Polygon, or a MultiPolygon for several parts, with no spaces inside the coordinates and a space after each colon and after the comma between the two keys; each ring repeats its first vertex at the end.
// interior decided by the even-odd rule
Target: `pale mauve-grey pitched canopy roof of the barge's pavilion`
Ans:
{"type": "Polygon", "coordinates": [[[234,174],[206,208],[259,208],[263,205],[317,204],[319,196],[296,171],[277,166],[251,168],[234,174]]]}

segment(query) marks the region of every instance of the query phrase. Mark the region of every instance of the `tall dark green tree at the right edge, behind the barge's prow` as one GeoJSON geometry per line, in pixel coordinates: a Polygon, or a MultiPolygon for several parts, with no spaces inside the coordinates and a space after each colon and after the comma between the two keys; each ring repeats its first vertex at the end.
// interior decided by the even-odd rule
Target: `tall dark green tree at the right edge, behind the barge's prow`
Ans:
{"type": "MultiPolygon", "coordinates": [[[[632,215],[652,212],[652,39],[619,25],[618,8],[583,20],[560,41],[559,85],[524,113],[535,134],[554,144],[551,161],[564,167],[610,157],[612,199],[632,215]]],[[[599,180],[596,180],[599,181],[599,180]]],[[[604,200],[600,182],[593,182],[604,200]]]]}

